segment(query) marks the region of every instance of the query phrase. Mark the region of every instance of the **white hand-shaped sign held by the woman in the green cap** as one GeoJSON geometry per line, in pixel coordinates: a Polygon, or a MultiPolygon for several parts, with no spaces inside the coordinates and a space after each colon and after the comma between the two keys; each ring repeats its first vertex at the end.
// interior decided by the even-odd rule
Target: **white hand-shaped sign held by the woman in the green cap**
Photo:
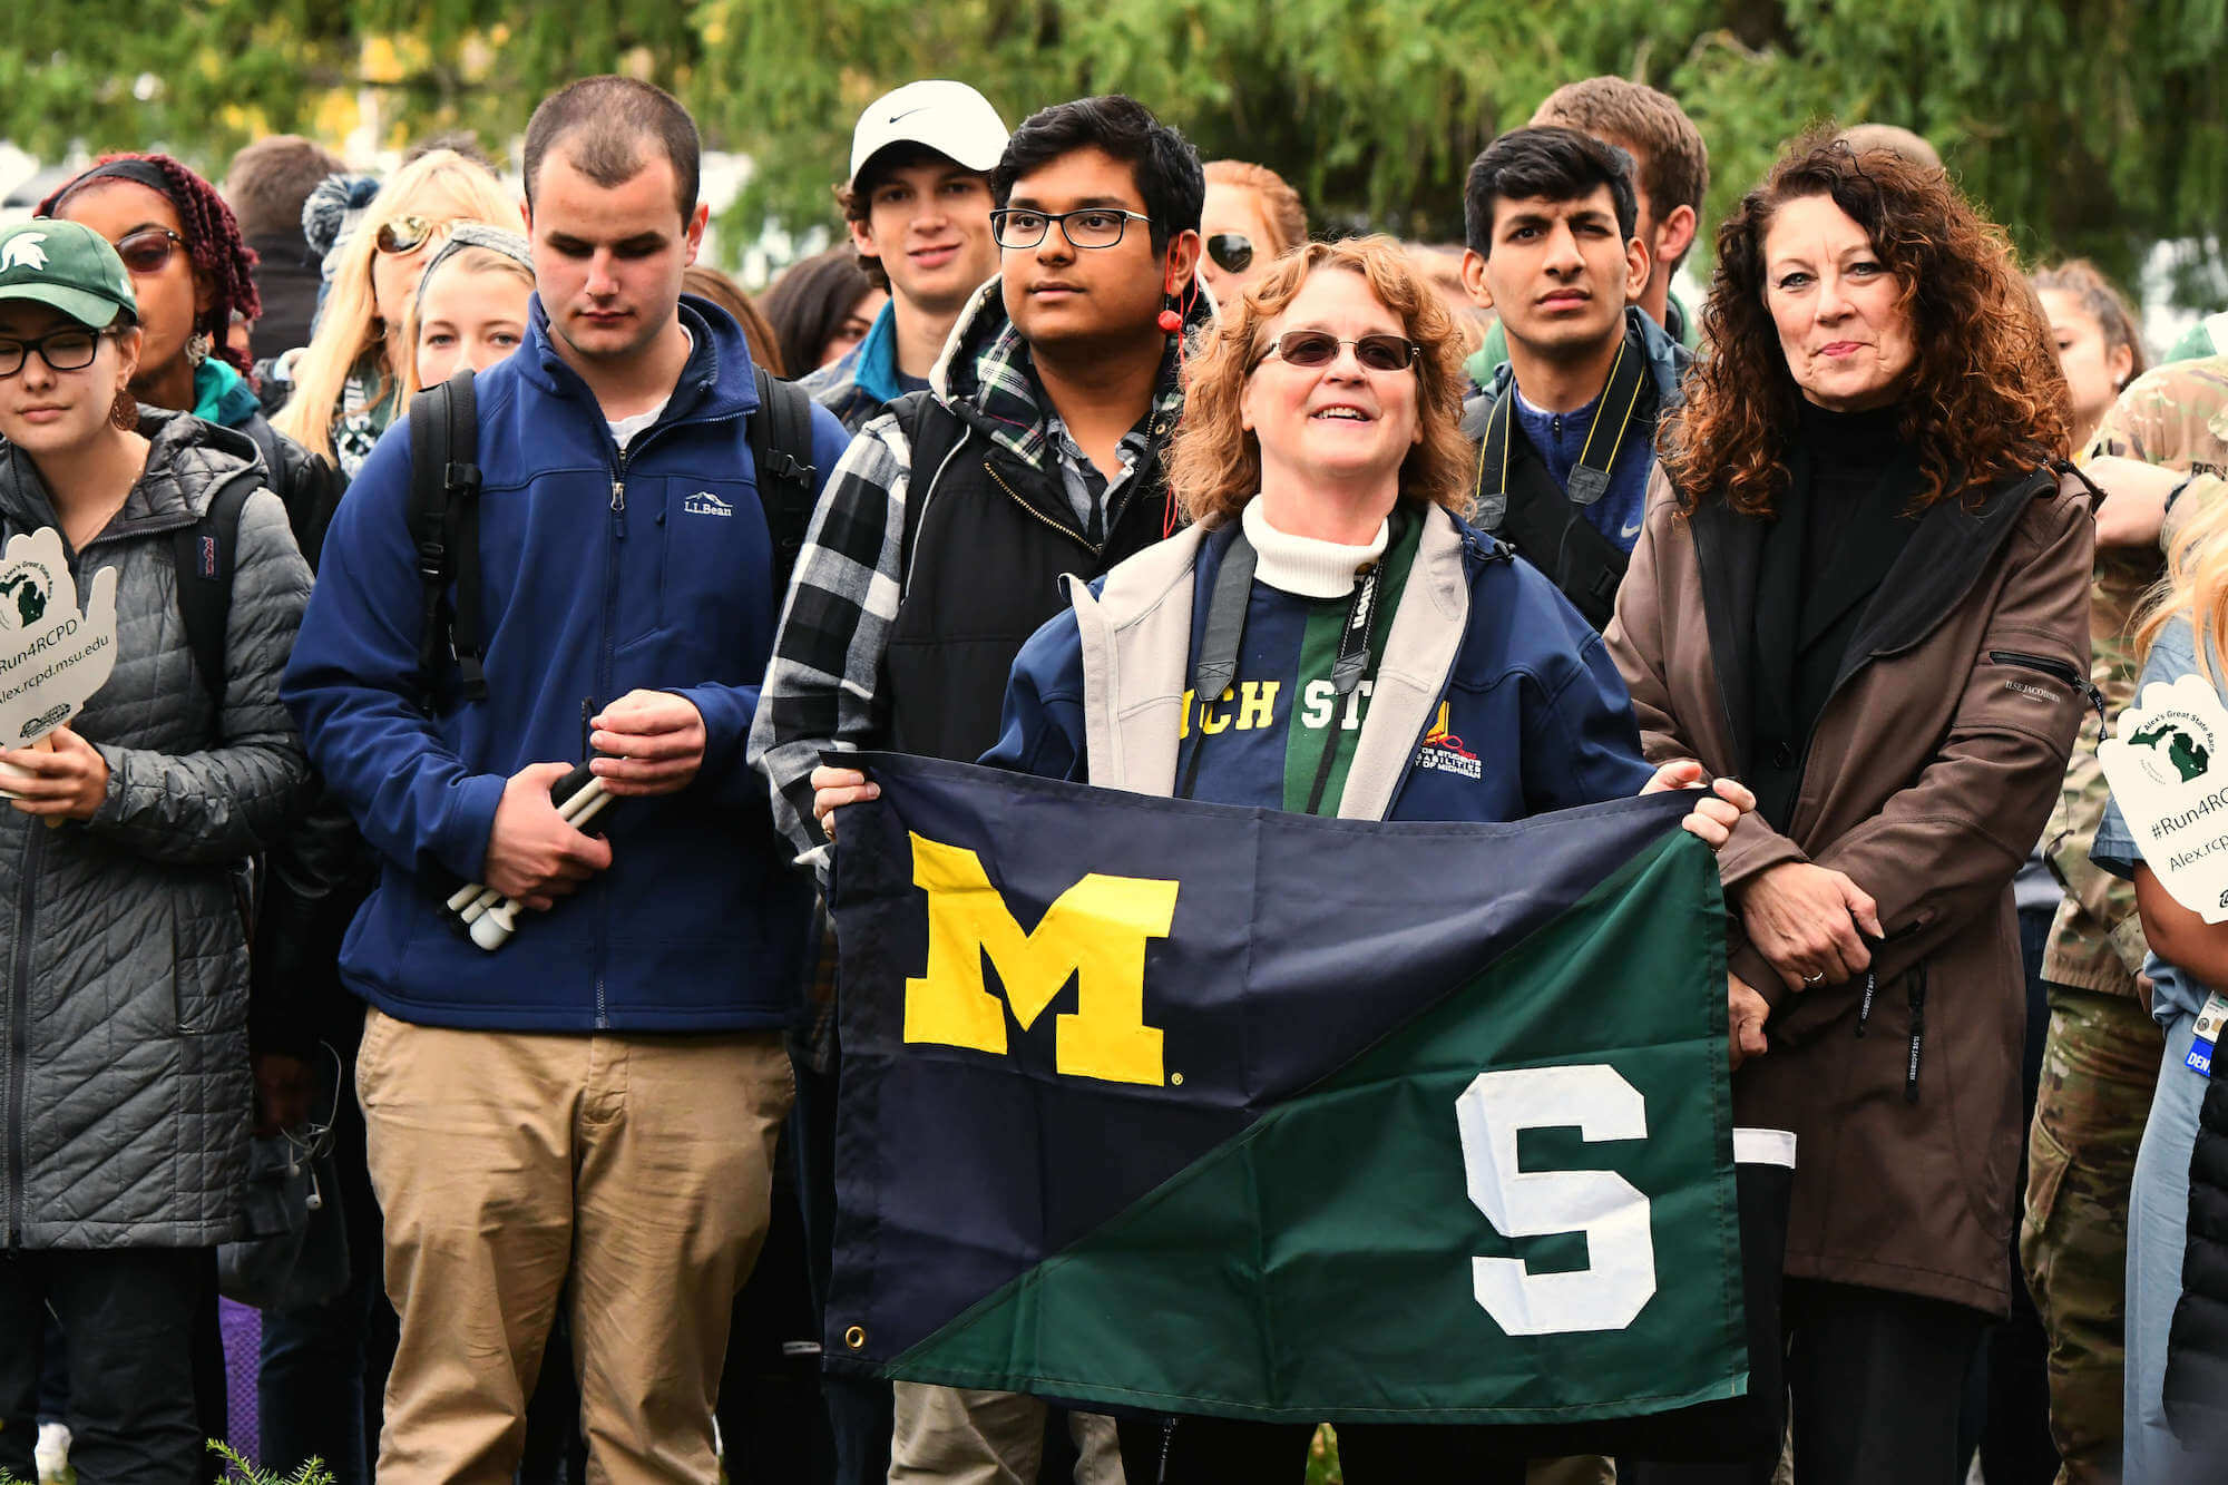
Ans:
{"type": "Polygon", "coordinates": [[[94,573],[94,602],[80,613],[62,533],[40,526],[9,537],[0,551],[0,747],[38,745],[114,669],[116,569],[94,573]]]}

